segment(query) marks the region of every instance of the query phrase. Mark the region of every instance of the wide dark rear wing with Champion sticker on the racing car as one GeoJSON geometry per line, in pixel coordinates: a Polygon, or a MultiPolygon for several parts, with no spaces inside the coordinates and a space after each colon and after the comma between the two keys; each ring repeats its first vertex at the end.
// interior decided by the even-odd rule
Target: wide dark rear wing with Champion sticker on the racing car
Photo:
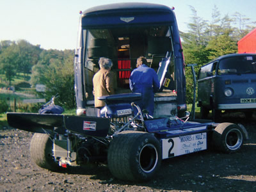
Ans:
{"type": "Polygon", "coordinates": [[[71,116],[40,113],[7,113],[8,124],[16,129],[65,134],[67,131],[84,136],[105,137],[108,134],[110,121],[108,118],[92,116],[71,116]]]}

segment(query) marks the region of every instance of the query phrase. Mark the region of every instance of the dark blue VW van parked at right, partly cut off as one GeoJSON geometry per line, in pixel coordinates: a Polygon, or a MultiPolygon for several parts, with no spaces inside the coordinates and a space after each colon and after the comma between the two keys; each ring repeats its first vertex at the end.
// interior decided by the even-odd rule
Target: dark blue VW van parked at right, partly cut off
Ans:
{"type": "Polygon", "coordinates": [[[198,106],[201,118],[218,120],[225,111],[242,111],[247,117],[256,109],[256,54],[227,54],[198,72],[198,106]]]}

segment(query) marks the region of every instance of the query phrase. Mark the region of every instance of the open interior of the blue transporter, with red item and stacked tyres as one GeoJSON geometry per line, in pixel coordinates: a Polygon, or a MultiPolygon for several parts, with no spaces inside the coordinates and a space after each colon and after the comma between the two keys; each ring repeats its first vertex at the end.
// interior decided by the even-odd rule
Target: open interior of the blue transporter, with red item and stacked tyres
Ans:
{"type": "MultiPolygon", "coordinates": [[[[127,28],[83,29],[84,47],[84,84],[87,100],[93,99],[94,74],[99,70],[99,58],[106,57],[113,61],[116,74],[116,93],[129,93],[129,77],[136,60],[145,56],[148,66],[158,70],[159,63],[170,54],[168,76],[174,80],[174,58],[172,28],[161,26],[129,26],[127,28]]],[[[172,92],[175,84],[163,92],[172,92]]]]}

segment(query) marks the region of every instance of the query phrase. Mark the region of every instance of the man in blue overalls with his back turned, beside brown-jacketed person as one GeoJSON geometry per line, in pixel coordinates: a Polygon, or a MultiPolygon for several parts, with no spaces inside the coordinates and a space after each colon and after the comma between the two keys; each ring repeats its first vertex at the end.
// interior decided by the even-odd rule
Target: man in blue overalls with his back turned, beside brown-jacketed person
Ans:
{"type": "Polygon", "coordinates": [[[147,60],[143,56],[137,59],[136,69],[129,79],[133,93],[141,93],[141,100],[136,102],[141,110],[147,109],[148,115],[154,115],[154,93],[159,90],[159,81],[153,68],[147,66],[147,60]]]}

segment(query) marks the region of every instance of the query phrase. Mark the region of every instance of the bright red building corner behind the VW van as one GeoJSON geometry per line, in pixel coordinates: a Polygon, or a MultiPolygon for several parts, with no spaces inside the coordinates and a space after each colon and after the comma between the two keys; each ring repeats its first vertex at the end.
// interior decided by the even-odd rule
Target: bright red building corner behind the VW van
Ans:
{"type": "Polygon", "coordinates": [[[256,28],[237,42],[238,53],[256,53],[256,28]]]}

